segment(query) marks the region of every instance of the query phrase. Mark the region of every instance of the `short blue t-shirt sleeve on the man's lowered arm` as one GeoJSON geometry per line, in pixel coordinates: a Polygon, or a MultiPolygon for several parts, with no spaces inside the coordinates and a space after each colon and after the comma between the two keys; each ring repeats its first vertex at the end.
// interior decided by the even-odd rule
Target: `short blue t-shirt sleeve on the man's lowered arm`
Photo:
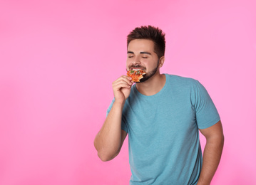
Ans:
{"type": "Polygon", "coordinates": [[[220,115],[207,90],[198,80],[192,90],[191,102],[195,110],[195,120],[199,129],[205,129],[220,121],[220,115]]]}

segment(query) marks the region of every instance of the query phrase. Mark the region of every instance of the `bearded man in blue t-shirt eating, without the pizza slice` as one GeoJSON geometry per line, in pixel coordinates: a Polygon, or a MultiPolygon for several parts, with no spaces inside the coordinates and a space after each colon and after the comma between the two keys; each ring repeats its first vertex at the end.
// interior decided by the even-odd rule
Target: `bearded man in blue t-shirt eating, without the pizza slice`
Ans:
{"type": "Polygon", "coordinates": [[[126,70],[146,74],[135,85],[126,75],[113,82],[114,100],[94,141],[98,157],[116,157],[128,134],[130,184],[210,184],[224,136],[207,91],[198,80],[160,74],[165,33],[159,28],[135,28],[127,47],[126,70]],[[203,157],[198,129],[206,138],[203,157]]]}

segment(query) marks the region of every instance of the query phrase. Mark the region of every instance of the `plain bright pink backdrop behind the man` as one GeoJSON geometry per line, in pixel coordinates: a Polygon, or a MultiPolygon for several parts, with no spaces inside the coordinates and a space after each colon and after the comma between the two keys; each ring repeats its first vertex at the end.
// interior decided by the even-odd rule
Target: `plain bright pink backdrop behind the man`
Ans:
{"type": "Polygon", "coordinates": [[[111,83],[126,73],[126,36],[148,24],[166,33],[161,72],[200,80],[220,112],[225,148],[212,184],[256,184],[255,7],[0,1],[0,184],[128,184],[128,139],[111,162],[93,139],[111,83]]]}

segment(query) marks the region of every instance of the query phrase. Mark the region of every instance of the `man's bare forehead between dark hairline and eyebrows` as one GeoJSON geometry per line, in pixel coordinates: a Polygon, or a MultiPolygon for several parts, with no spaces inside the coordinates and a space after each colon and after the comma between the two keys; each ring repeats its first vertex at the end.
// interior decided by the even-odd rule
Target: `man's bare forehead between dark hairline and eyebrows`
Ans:
{"type": "Polygon", "coordinates": [[[128,51],[154,51],[154,43],[148,39],[135,39],[130,41],[128,51]]]}

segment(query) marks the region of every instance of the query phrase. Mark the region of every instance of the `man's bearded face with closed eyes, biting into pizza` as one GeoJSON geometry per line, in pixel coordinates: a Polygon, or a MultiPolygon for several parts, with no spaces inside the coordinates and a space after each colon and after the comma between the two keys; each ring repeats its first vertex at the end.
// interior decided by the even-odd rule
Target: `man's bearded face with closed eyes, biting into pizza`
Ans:
{"type": "Polygon", "coordinates": [[[148,80],[158,70],[159,60],[154,52],[153,41],[147,39],[135,39],[130,41],[127,49],[126,70],[143,69],[147,74],[143,75],[140,82],[148,80]]]}

